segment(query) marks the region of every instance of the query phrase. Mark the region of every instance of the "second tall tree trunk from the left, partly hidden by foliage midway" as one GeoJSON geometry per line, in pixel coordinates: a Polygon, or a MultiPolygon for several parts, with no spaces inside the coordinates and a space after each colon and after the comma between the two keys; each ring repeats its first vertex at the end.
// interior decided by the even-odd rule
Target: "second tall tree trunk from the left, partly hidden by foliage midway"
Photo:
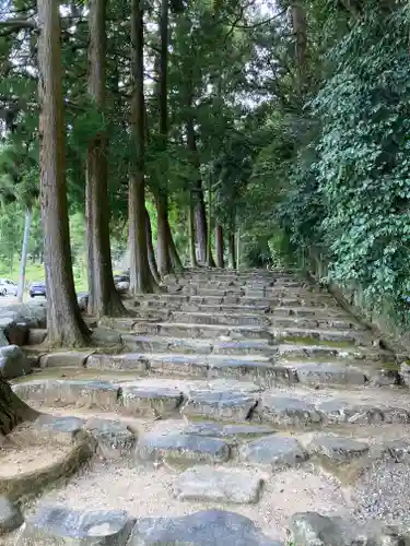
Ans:
{"type": "MultiPolygon", "coordinates": [[[[90,1],[89,93],[98,111],[105,109],[106,87],[106,0],[90,1]]],[[[89,312],[125,314],[126,309],[114,284],[109,241],[108,135],[101,129],[89,141],[86,164],[89,232],[89,312]],[[90,261],[90,258],[92,261],[90,261]]]]}

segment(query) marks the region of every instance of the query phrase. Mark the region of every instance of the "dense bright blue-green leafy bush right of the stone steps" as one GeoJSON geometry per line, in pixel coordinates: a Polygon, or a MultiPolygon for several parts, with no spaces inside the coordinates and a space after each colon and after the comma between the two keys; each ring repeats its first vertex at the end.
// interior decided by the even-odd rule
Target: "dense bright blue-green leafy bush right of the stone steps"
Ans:
{"type": "Polygon", "coordinates": [[[282,225],[325,248],[329,276],[359,283],[372,306],[410,290],[410,71],[405,9],[368,2],[328,51],[331,72],[311,102],[320,132],[300,150],[282,225]]]}

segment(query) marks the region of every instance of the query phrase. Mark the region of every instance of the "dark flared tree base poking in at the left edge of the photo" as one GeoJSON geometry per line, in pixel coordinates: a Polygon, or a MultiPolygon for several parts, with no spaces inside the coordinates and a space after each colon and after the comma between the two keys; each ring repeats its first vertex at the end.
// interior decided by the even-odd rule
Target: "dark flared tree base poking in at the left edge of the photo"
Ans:
{"type": "Polygon", "coordinates": [[[16,394],[10,384],[0,378],[0,435],[10,434],[21,423],[34,420],[38,412],[27,406],[16,394]]]}

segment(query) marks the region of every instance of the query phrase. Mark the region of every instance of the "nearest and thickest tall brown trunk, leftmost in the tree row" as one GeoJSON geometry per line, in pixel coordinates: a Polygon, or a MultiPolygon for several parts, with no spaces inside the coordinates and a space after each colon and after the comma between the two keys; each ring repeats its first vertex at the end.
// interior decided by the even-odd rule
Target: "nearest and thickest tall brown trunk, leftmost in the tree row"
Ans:
{"type": "Polygon", "coordinates": [[[59,4],[38,0],[39,165],[48,342],[81,346],[89,332],[77,302],[66,187],[59,4]]]}

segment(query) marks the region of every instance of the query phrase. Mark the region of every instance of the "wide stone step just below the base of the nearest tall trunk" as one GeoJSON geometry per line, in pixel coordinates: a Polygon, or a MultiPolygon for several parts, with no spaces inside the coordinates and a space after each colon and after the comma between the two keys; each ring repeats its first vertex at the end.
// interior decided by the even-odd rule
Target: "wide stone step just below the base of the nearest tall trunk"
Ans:
{"type": "MultiPolygon", "coordinates": [[[[231,378],[254,381],[260,387],[270,388],[274,384],[296,383],[307,385],[360,385],[372,380],[379,387],[399,384],[397,370],[385,368],[377,363],[360,361],[352,366],[349,360],[272,360],[266,356],[229,355],[196,355],[177,353],[48,353],[39,357],[43,369],[63,368],[68,370],[84,369],[101,370],[113,373],[120,372],[126,380],[130,372],[134,377],[163,376],[184,378],[231,378]]],[[[66,371],[67,372],[67,371],[66,371]]],[[[38,376],[37,376],[38,377],[38,376]]],[[[122,380],[122,379],[121,379],[122,380]]]]}

